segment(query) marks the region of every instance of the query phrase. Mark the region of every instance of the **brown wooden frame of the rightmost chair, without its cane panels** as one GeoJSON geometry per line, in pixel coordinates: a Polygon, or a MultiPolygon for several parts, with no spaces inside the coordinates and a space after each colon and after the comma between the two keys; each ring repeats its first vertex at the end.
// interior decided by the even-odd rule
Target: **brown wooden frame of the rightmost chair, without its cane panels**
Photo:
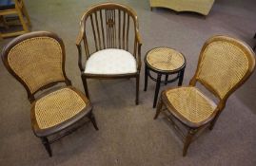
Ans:
{"type": "Polygon", "coordinates": [[[247,46],[244,42],[241,42],[239,40],[236,40],[236,39],[233,39],[230,37],[226,37],[226,36],[213,36],[207,40],[207,42],[205,43],[205,45],[203,46],[203,48],[201,50],[195,75],[189,82],[189,86],[196,86],[196,83],[201,83],[202,85],[204,85],[207,88],[207,90],[209,92],[211,92],[215,97],[217,97],[219,99],[219,102],[217,103],[217,107],[215,108],[213,114],[211,114],[211,116],[207,118],[207,120],[203,120],[203,121],[196,123],[196,122],[192,122],[192,121],[185,119],[182,115],[180,115],[180,113],[177,110],[175,110],[175,108],[171,105],[171,103],[167,99],[167,96],[165,95],[165,93],[168,90],[173,89],[173,88],[169,88],[162,92],[161,98],[157,105],[157,110],[156,110],[154,120],[156,120],[158,118],[158,116],[161,112],[163,112],[163,113],[165,113],[165,115],[167,115],[167,119],[170,120],[172,122],[172,124],[174,124],[175,129],[177,129],[177,131],[179,132],[179,134],[181,134],[181,136],[183,138],[183,141],[184,141],[183,156],[184,157],[187,155],[188,146],[190,145],[192,139],[195,138],[194,136],[196,134],[198,134],[199,131],[201,131],[202,129],[205,129],[207,126],[209,127],[210,130],[213,129],[215,122],[218,120],[220,114],[222,113],[223,109],[226,106],[226,100],[228,99],[228,97],[236,89],[238,89],[243,83],[245,83],[246,80],[249,78],[249,76],[252,74],[254,67],[255,67],[254,56],[255,55],[254,55],[254,52],[252,51],[252,49],[249,46],[247,46]],[[216,89],[214,89],[213,86],[211,86],[208,83],[205,83],[204,81],[199,80],[197,78],[197,76],[199,74],[199,66],[200,66],[200,63],[202,62],[204,51],[209,44],[211,44],[212,42],[215,42],[215,41],[226,41],[235,46],[240,46],[240,48],[246,52],[246,57],[247,57],[248,63],[249,63],[248,69],[247,69],[246,74],[243,77],[243,79],[239,83],[236,83],[226,93],[226,95],[223,98],[220,97],[220,95],[217,93],[216,89]],[[164,112],[166,110],[167,110],[168,114],[166,112],[164,112]],[[185,126],[185,128],[187,128],[187,135],[184,134],[184,132],[182,132],[181,128],[175,123],[174,120],[179,121],[181,124],[183,124],[185,126]]]}

